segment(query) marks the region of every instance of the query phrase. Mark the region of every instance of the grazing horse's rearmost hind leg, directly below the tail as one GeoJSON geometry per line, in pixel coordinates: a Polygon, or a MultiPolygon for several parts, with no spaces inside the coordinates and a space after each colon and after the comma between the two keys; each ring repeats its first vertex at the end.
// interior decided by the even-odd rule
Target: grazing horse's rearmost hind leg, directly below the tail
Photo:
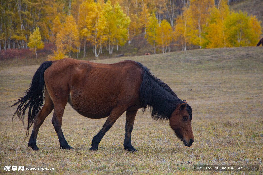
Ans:
{"type": "Polygon", "coordinates": [[[39,150],[39,148],[37,147],[37,134],[38,134],[39,127],[42,125],[44,120],[52,112],[53,109],[54,109],[54,104],[53,104],[48,92],[46,91],[46,93],[45,93],[45,104],[35,117],[32,134],[31,134],[30,139],[28,141],[28,146],[31,147],[34,151],[39,150]]]}

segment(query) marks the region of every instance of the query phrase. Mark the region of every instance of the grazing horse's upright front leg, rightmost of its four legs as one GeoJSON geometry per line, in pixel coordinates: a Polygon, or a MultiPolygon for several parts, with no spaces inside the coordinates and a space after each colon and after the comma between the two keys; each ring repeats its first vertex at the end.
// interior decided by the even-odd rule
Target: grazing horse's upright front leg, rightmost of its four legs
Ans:
{"type": "Polygon", "coordinates": [[[130,152],[137,151],[132,145],[131,145],[131,132],[133,129],[133,123],[135,116],[137,114],[138,110],[135,111],[127,111],[126,112],[126,123],[125,123],[125,139],[123,142],[123,146],[125,150],[128,150],[130,152]]]}

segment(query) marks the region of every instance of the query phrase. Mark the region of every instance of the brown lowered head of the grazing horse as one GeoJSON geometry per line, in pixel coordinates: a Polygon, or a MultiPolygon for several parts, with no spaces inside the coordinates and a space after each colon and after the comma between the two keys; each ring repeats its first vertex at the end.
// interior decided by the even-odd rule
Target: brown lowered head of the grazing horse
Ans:
{"type": "Polygon", "coordinates": [[[194,135],[191,127],[192,109],[186,103],[177,105],[170,116],[170,126],[177,137],[184,142],[185,146],[191,146],[194,142],[194,135]]]}

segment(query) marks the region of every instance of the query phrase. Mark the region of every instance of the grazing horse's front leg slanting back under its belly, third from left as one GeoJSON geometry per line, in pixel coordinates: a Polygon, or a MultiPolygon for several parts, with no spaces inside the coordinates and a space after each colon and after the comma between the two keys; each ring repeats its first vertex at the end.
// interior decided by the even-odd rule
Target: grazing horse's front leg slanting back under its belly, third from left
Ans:
{"type": "Polygon", "coordinates": [[[127,107],[115,107],[112,109],[112,112],[110,113],[109,117],[107,118],[106,122],[103,125],[103,128],[98,132],[97,135],[95,135],[91,142],[91,148],[90,150],[98,150],[98,145],[103,138],[103,136],[106,134],[106,132],[112,127],[112,125],[115,123],[115,121],[121,116],[127,107]]]}

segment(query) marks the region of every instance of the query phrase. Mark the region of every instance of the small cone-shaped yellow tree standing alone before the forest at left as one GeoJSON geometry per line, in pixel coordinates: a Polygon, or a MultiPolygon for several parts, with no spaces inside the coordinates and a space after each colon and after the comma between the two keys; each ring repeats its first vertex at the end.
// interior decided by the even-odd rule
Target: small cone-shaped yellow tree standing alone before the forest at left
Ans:
{"type": "Polygon", "coordinates": [[[33,31],[33,33],[30,34],[28,47],[35,50],[36,59],[37,59],[37,50],[42,49],[44,47],[44,43],[43,43],[43,41],[41,41],[41,35],[40,35],[38,27],[36,27],[36,29],[33,31]]]}

